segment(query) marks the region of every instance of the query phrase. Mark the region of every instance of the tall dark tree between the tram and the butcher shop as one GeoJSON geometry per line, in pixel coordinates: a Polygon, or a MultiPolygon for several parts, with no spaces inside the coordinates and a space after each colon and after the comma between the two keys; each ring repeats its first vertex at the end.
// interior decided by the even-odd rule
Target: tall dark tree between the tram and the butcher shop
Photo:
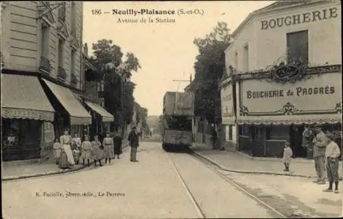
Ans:
{"type": "Polygon", "coordinates": [[[218,82],[224,73],[224,50],[230,45],[230,39],[227,23],[218,22],[205,38],[195,38],[193,41],[200,53],[194,63],[194,81],[198,82],[198,86],[193,90],[196,94],[195,114],[212,124],[220,122],[218,82]]]}

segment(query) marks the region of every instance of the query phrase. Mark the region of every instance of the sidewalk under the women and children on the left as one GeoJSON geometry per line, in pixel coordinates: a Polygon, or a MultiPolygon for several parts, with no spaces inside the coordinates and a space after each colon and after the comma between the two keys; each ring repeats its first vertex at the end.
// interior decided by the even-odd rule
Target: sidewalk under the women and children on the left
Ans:
{"type": "MultiPolygon", "coordinates": [[[[128,146],[128,142],[123,143],[123,150],[128,146]]],[[[82,162],[82,161],[81,161],[82,162]]],[[[93,161],[91,161],[93,164],[93,161]]],[[[2,181],[16,180],[19,178],[32,178],[54,174],[64,174],[88,168],[88,165],[73,165],[69,170],[61,170],[55,163],[55,159],[49,159],[43,163],[23,163],[23,162],[2,162],[2,181]]]]}

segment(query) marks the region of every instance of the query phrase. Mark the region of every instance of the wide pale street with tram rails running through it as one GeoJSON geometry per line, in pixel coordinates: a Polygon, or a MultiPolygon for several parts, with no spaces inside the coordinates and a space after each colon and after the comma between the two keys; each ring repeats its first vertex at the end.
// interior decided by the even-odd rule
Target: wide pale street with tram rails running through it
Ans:
{"type": "Polygon", "coordinates": [[[191,154],[164,152],[158,142],[141,143],[139,163],[129,161],[129,152],[124,150],[121,159],[102,168],[3,182],[4,218],[280,218],[277,212],[291,218],[342,214],[342,195],[323,193],[306,178],[215,170],[191,154]]]}

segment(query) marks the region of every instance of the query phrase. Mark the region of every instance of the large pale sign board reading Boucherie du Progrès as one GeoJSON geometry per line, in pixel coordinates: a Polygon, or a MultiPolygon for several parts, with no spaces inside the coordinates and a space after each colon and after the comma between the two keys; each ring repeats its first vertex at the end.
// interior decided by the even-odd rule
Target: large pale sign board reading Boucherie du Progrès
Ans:
{"type": "Polygon", "coordinates": [[[240,93],[243,115],[299,115],[342,111],[340,73],[325,73],[295,83],[246,80],[241,84],[240,93]],[[286,112],[285,108],[292,108],[292,112],[286,112]]]}

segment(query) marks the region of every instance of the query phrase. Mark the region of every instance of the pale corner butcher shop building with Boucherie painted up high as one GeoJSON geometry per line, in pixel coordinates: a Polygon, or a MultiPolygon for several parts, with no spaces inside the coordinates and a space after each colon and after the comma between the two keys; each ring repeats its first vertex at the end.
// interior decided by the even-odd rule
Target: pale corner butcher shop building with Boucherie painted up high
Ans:
{"type": "Polygon", "coordinates": [[[290,141],[309,158],[305,125],[342,130],[340,1],[276,1],[249,14],[225,53],[237,150],[281,157],[290,141]]]}

